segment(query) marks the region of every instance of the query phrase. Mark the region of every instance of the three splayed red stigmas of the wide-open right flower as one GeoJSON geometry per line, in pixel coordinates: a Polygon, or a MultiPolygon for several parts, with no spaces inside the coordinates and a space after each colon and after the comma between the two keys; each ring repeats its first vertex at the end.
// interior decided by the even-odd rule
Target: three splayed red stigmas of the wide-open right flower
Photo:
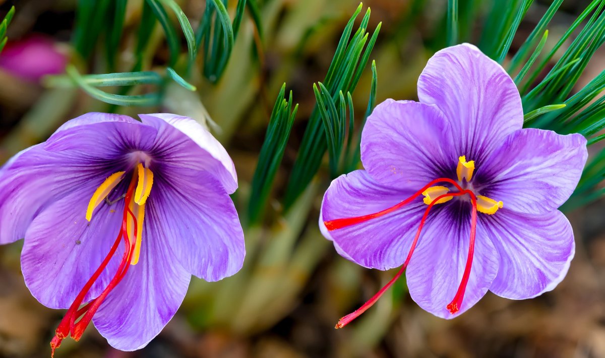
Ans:
{"type": "Polygon", "coordinates": [[[454,314],[460,310],[460,307],[462,305],[462,300],[464,298],[464,294],[466,291],[466,285],[468,284],[468,279],[469,279],[469,276],[471,273],[471,266],[473,265],[475,233],[476,233],[476,227],[477,227],[477,197],[471,190],[462,189],[462,187],[460,187],[460,185],[454,180],[451,180],[448,178],[437,178],[437,179],[431,181],[430,183],[428,183],[427,185],[425,185],[424,187],[422,187],[422,189],[418,190],[413,195],[411,195],[411,197],[409,197],[387,209],[381,210],[376,213],[371,213],[368,215],[356,216],[354,218],[344,218],[344,219],[324,221],[324,224],[328,230],[332,231],[332,230],[342,229],[343,227],[347,227],[347,226],[351,226],[351,225],[355,225],[355,224],[359,224],[359,223],[364,223],[365,221],[368,221],[368,220],[371,220],[374,218],[378,218],[382,215],[386,215],[387,213],[393,212],[394,210],[397,210],[397,209],[405,206],[406,204],[410,203],[415,198],[417,198],[420,194],[422,194],[422,192],[427,190],[428,187],[431,187],[434,184],[440,183],[443,181],[453,184],[456,187],[456,189],[458,189],[459,191],[440,195],[439,197],[437,197],[433,201],[431,201],[431,203],[428,205],[427,209],[425,210],[424,215],[422,215],[422,219],[420,220],[420,225],[418,227],[418,230],[416,231],[416,236],[414,236],[414,240],[412,241],[412,244],[410,247],[410,252],[408,253],[407,258],[405,259],[404,264],[401,266],[401,269],[399,269],[399,272],[397,272],[397,274],[390,281],[388,281],[387,284],[384,285],[384,287],[382,287],[374,296],[372,296],[372,298],[370,298],[367,302],[365,302],[365,304],[363,304],[361,307],[359,307],[353,313],[347,314],[346,316],[339,319],[338,324],[336,324],[335,328],[345,327],[345,325],[349,324],[354,319],[359,317],[368,308],[370,308],[374,303],[376,303],[376,301],[378,301],[378,299],[381,298],[382,295],[384,295],[384,293],[397,281],[397,279],[399,279],[401,277],[401,275],[405,272],[405,269],[407,269],[408,264],[410,263],[411,256],[414,253],[414,249],[416,249],[416,244],[418,243],[418,240],[420,238],[420,233],[422,232],[422,228],[424,227],[424,224],[427,221],[427,218],[428,218],[428,215],[429,215],[431,209],[437,203],[437,201],[439,201],[443,198],[447,198],[447,197],[459,197],[461,195],[468,194],[471,197],[471,203],[473,206],[473,210],[471,213],[471,238],[469,241],[468,258],[466,259],[465,271],[462,276],[462,281],[460,282],[460,286],[456,292],[456,296],[454,296],[454,299],[452,300],[452,302],[450,302],[450,304],[448,304],[446,306],[446,308],[448,310],[450,310],[450,313],[452,313],[452,314],[454,314]]]}

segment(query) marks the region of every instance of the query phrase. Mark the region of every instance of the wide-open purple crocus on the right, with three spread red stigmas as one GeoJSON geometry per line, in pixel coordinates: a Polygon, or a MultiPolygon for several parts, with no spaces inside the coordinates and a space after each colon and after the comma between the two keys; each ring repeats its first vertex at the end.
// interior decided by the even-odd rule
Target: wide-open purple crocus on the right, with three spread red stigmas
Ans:
{"type": "Polygon", "coordinates": [[[509,299],[552,290],[574,256],[557,210],[586,163],[586,140],[522,129],[506,71],[473,45],[437,52],[418,80],[420,102],[387,100],[362,132],[365,170],[336,178],[319,225],[347,259],[407,269],[410,296],[443,318],[490,290],[509,299]]]}

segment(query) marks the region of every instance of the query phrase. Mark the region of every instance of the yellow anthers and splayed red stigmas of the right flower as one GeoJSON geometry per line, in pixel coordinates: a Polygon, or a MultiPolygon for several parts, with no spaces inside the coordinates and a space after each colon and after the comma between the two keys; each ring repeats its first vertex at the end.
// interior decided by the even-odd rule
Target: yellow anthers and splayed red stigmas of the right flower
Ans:
{"type": "Polygon", "coordinates": [[[342,317],[338,321],[338,324],[336,324],[336,328],[344,327],[349,322],[353,321],[353,319],[355,319],[356,317],[358,317],[359,315],[364,313],[364,311],[367,310],[368,308],[370,308],[371,305],[373,305],[376,301],[378,301],[378,299],[385,293],[385,291],[387,291],[388,288],[390,288],[391,285],[393,285],[394,282],[397,281],[397,279],[399,279],[399,277],[402,275],[402,273],[404,273],[405,269],[407,268],[407,265],[410,262],[411,255],[414,252],[414,249],[416,248],[416,244],[418,242],[418,239],[420,238],[420,233],[422,232],[422,228],[424,227],[425,221],[428,218],[428,214],[429,214],[430,210],[433,208],[433,206],[436,204],[446,203],[446,202],[452,200],[454,197],[458,197],[458,198],[460,198],[460,200],[464,200],[463,198],[466,197],[466,195],[468,195],[470,198],[470,201],[471,201],[471,230],[470,230],[470,239],[469,239],[469,246],[468,246],[468,256],[466,258],[465,270],[462,275],[462,280],[460,281],[458,290],[456,291],[456,295],[454,296],[454,299],[449,304],[446,305],[446,308],[452,314],[454,314],[460,310],[460,307],[462,307],[462,301],[463,301],[464,294],[466,291],[466,285],[468,284],[468,280],[470,277],[471,267],[473,265],[473,256],[474,256],[474,248],[475,248],[475,234],[476,234],[476,229],[477,229],[477,212],[492,215],[495,212],[497,212],[498,209],[502,209],[502,207],[503,207],[502,201],[495,201],[491,198],[485,197],[483,195],[477,195],[475,193],[475,190],[473,189],[473,185],[471,183],[471,180],[473,179],[474,170],[475,170],[474,161],[472,161],[472,160],[466,161],[466,157],[463,155],[462,157],[458,158],[458,166],[456,168],[456,174],[458,177],[458,181],[455,181],[450,178],[437,178],[437,179],[431,181],[430,183],[428,183],[427,185],[425,185],[424,187],[422,187],[422,189],[418,190],[413,195],[411,195],[411,197],[395,204],[392,207],[381,210],[380,212],[371,213],[371,214],[362,215],[362,216],[356,216],[354,218],[342,218],[342,219],[324,221],[324,225],[325,225],[326,229],[328,229],[330,231],[342,229],[343,227],[347,227],[347,226],[351,226],[351,225],[355,225],[355,224],[359,224],[359,223],[364,223],[365,221],[368,221],[368,220],[371,220],[374,218],[378,218],[379,216],[386,215],[387,213],[400,209],[401,207],[405,206],[406,204],[411,203],[411,201],[413,201],[414,199],[419,197],[420,194],[424,195],[423,201],[425,204],[428,205],[427,209],[425,210],[424,215],[422,216],[422,219],[420,220],[420,225],[416,232],[416,236],[414,236],[414,240],[411,244],[410,252],[408,253],[408,256],[405,259],[405,262],[402,265],[401,269],[399,270],[399,272],[397,272],[397,275],[395,275],[394,278],[391,279],[391,281],[389,281],[384,287],[382,287],[381,290],[379,290],[378,293],[376,293],[376,295],[374,295],[369,301],[365,302],[365,304],[362,305],[358,310],[354,311],[353,313],[347,314],[347,316],[342,317]],[[436,185],[436,184],[443,184],[443,183],[449,184],[451,187],[454,187],[454,189],[457,189],[458,191],[450,192],[450,190],[451,190],[450,187],[443,186],[443,185],[436,185]]]}

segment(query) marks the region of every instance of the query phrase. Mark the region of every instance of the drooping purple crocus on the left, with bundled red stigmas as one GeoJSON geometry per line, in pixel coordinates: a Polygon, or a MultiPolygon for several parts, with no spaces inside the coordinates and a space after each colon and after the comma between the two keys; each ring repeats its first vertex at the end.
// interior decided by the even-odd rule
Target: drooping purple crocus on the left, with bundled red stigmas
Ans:
{"type": "Polygon", "coordinates": [[[227,152],[192,119],[140,117],[77,117],[0,172],[0,243],[25,238],[31,294],[68,309],[53,353],[91,321],[115,348],[145,347],[191,275],[217,281],[243,264],[227,152]]]}

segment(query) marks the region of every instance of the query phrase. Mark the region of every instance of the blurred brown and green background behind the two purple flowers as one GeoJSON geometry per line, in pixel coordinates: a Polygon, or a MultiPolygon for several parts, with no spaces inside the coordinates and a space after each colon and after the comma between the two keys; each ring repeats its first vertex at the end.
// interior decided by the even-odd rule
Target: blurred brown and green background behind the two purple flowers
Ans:
{"type": "MultiPolygon", "coordinates": [[[[237,1],[224,2],[233,19],[237,1]]],[[[80,342],[66,339],[56,357],[605,357],[605,201],[598,197],[566,211],[577,250],[567,278],[554,291],[526,301],[488,293],[467,313],[446,321],[417,307],[402,279],[357,321],[335,330],[339,317],[370,298],[396,271],[363,269],[336,254],[319,233],[321,195],[335,174],[328,155],[320,157],[317,174],[312,172],[298,193],[292,194],[288,187],[309,118],[316,116],[313,83],[324,81],[359,2],[249,2],[226,66],[214,70],[208,63],[217,59],[220,49],[214,54],[206,50],[203,59],[188,62],[188,43],[175,13],[166,10],[177,36],[171,42],[164,23],[148,21],[145,6],[153,3],[0,0],[0,19],[12,5],[16,8],[8,25],[8,42],[0,53],[0,163],[85,112],[136,117],[166,111],[191,116],[211,128],[235,162],[240,189],[234,201],[246,233],[246,264],[238,275],[221,282],[194,278],[174,319],[140,351],[114,350],[90,327],[80,342]],[[174,46],[180,50],[174,51],[174,46]],[[65,74],[68,63],[75,74],[65,74]],[[166,75],[168,66],[197,90],[171,80],[166,75]],[[103,91],[122,96],[157,94],[142,105],[112,103],[114,97],[94,93],[78,82],[87,80],[87,74],[135,71],[155,71],[163,80],[103,91]],[[284,82],[286,95],[292,91],[293,103],[299,104],[298,112],[289,138],[285,135],[275,178],[268,180],[261,195],[266,200],[250,204],[258,185],[263,185],[253,178],[259,171],[273,103],[284,82]]],[[[594,3],[602,4],[563,1],[548,25],[546,47],[552,48],[594,3]]],[[[175,4],[194,30],[203,23],[208,11],[205,1],[175,4]]],[[[482,41],[482,24],[493,4],[460,1],[461,39],[482,41]]],[[[545,0],[531,4],[505,63],[551,4],[545,0]]],[[[387,98],[416,99],[420,71],[436,50],[446,46],[448,1],[369,0],[354,22],[353,33],[368,7],[370,37],[382,24],[367,65],[362,63],[359,70],[356,90],[350,89],[356,128],[361,128],[371,97],[372,60],[378,79],[376,103],[387,98]]],[[[500,16],[508,16],[505,12],[500,16]]],[[[560,57],[558,51],[546,61],[538,80],[560,57]]],[[[605,49],[598,45],[571,94],[604,69],[605,49]]],[[[597,143],[590,153],[597,155],[601,148],[597,143]]],[[[358,165],[353,163],[352,168],[358,165]]],[[[45,308],[30,296],[20,271],[21,246],[16,242],[0,247],[0,357],[48,357],[48,343],[64,312],[45,308]]]]}

